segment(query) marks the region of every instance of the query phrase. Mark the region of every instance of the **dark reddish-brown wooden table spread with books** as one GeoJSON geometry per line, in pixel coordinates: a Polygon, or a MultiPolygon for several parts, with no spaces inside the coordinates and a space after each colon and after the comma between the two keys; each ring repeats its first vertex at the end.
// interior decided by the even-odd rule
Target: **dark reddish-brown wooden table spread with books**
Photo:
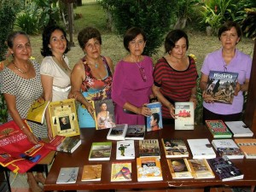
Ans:
{"type": "MultiPolygon", "coordinates": [[[[205,191],[212,186],[254,186],[256,185],[256,160],[232,160],[235,165],[244,173],[244,179],[229,182],[222,182],[218,176],[214,179],[178,179],[173,180],[169,171],[164,148],[160,143],[161,151],[161,168],[163,172],[163,181],[156,182],[137,182],[137,167],[136,160],[131,160],[132,163],[132,181],[131,182],[110,182],[111,162],[118,161],[116,156],[116,141],[113,141],[112,155],[110,161],[89,161],[88,156],[92,142],[107,141],[108,130],[96,131],[95,129],[81,129],[82,145],[73,152],[73,154],[57,153],[55,161],[49,171],[49,176],[46,178],[44,190],[83,190],[83,189],[170,189],[180,187],[202,187],[205,191]],[[102,181],[101,182],[81,182],[81,174],[83,166],[88,164],[102,164],[102,181]],[[76,183],[72,184],[56,184],[56,179],[59,175],[61,167],[79,166],[79,176],[76,183]]],[[[212,135],[203,125],[195,126],[193,131],[174,131],[174,128],[164,127],[160,131],[150,131],[146,133],[145,138],[209,138],[212,141],[212,135]]],[[[187,142],[186,142],[187,143],[187,142]]],[[[189,149],[189,146],[187,146],[189,149]]],[[[138,157],[138,141],[135,141],[136,157],[138,157]]],[[[192,159],[189,151],[189,159],[192,159]]]]}

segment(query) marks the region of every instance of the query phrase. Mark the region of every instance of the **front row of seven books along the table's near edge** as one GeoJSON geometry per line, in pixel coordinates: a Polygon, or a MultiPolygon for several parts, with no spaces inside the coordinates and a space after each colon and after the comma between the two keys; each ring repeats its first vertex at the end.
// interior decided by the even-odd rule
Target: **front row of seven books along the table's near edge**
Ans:
{"type": "MultiPolygon", "coordinates": [[[[188,160],[186,158],[166,159],[172,179],[211,179],[215,174],[222,181],[242,179],[243,173],[228,159],[188,160]],[[212,172],[213,170],[213,172],[212,172]],[[215,173],[215,174],[214,174],[215,173]]],[[[158,157],[139,157],[136,162],[116,161],[111,163],[111,182],[131,181],[131,164],[137,164],[137,182],[163,180],[161,162],[158,157]]],[[[106,166],[106,165],[105,165],[106,166]]],[[[166,172],[166,170],[165,170],[166,172]]],[[[168,171],[167,171],[168,172],[168,171]]],[[[56,183],[76,183],[79,167],[62,167],[56,183]]],[[[81,181],[101,181],[102,164],[84,165],[81,181]]]]}

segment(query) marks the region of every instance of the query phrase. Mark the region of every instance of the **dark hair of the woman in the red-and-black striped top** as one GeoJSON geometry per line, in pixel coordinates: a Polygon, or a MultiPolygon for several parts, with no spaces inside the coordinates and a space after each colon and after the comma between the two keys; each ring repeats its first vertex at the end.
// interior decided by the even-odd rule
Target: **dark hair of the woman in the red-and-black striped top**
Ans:
{"type": "Polygon", "coordinates": [[[189,38],[186,32],[180,29],[175,29],[166,35],[166,41],[165,41],[166,53],[169,53],[170,51],[172,51],[177,41],[181,38],[186,39],[187,49],[189,49],[189,38]]]}

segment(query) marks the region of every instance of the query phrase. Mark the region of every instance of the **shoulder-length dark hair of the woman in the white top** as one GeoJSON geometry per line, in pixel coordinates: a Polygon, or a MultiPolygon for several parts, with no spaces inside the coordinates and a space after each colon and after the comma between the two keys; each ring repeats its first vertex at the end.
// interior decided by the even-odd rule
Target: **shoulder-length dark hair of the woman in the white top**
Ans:
{"type": "Polygon", "coordinates": [[[61,26],[49,26],[49,27],[44,28],[44,32],[42,34],[43,48],[41,49],[41,55],[43,55],[43,56],[53,56],[52,52],[51,52],[51,49],[49,49],[48,45],[49,45],[50,36],[53,32],[55,32],[55,30],[60,30],[61,32],[63,32],[63,35],[66,38],[67,48],[66,48],[64,54],[67,54],[67,52],[70,50],[69,41],[67,40],[67,33],[64,31],[64,29],[61,28],[61,26]]]}

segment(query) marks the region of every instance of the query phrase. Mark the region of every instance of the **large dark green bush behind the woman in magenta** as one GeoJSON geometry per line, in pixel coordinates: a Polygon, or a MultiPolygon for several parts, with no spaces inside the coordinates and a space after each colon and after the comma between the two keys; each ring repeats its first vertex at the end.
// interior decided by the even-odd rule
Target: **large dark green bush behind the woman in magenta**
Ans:
{"type": "Polygon", "coordinates": [[[145,55],[153,55],[163,43],[163,36],[170,30],[173,14],[172,3],[166,0],[101,0],[104,9],[113,16],[119,34],[131,26],[143,28],[148,38],[145,55]]]}

